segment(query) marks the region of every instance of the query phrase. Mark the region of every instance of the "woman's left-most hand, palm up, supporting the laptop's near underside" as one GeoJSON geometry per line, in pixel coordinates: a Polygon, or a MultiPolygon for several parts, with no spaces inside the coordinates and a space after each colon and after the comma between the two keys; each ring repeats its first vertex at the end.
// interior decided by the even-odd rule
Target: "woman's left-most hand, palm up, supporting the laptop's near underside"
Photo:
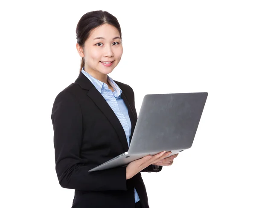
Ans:
{"type": "Polygon", "coordinates": [[[149,165],[153,163],[157,163],[163,160],[166,156],[169,156],[172,152],[163,151],[154,156],[145,156],[141,159],[134,160],[130,162],[129,165],[126,167],[126,179],[130,179],[139,173],[144,168],[147,168],[149,165]]]}

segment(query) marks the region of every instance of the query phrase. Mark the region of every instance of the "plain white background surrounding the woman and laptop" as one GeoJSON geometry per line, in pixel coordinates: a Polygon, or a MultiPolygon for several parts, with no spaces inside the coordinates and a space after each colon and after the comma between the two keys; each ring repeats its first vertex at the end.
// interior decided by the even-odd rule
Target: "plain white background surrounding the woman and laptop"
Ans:
{"type": "Polygon", "coordinates": [[[145,94],[208,92],[194,143],[142,173],[150,208],[255,208],[256,4],[248,0],[8,1],[0,4],[0,207],[71,208],[50,118],[79,75],[76,24],[108,11],[123,55],[111,78],[145,94]]]}

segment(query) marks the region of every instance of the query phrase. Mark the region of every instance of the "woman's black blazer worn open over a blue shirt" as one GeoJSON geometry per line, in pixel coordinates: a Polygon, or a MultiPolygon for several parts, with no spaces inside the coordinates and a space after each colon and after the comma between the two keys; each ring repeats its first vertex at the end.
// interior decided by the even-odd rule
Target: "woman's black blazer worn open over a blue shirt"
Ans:
{"type": "MultiPolygon", "coordinates": [[[[127,84],[115,82],[128,107],[132,137],[137,121],[134,91],[127,84]]],[[[134,187],[143,208],[148,208],[141,173],[126,180],[126,167],[88,172],[128,151],[128,144],[119,119],[82,72],[56,96],[51,119],[56,173],[61,187],[75,189],[72,208],[134,208],[134,187]]],[[[159,166],[154,171],[150,165],[141,172],[161,169],[159,166]]]]}

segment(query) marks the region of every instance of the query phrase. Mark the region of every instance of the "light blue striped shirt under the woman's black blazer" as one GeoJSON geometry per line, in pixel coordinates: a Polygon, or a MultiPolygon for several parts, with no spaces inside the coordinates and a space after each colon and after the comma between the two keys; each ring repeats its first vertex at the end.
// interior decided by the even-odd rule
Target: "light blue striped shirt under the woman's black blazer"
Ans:
{"type": "MultiPolygon", "coordinates": [[[[108,83],[113,87],[114,92],[112,92],[108,85],[98,79],[94,78],[88,72],[84,71],[84,67],[82,68],[81,72],[91,81],[91,83],[96,87],[96,89],[101,93],[101,95],[105,98],[113,112],[116,114],[117,118],[119,119],[122,127],[125,131],[126,139],[128,142],[128,147],[130,147],[130,136],[131,136],[131,120],[128,115],[128,108],[123,101],[121,94],[122,90],[118,87],[118,85],[107,75],[108,83]]],[[[134,188],[134,196],[135,202],[140,201],[139,195],[134,188]]]]}

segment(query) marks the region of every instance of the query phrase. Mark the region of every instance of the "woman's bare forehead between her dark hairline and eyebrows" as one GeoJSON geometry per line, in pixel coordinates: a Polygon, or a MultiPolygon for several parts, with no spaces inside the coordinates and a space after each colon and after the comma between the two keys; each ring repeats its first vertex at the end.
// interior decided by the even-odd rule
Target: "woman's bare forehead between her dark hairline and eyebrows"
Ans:
{"type": "Polygon", "coordinates": [[[97,37],[102,37],[102,38],[105,38],[106,40],[112,40],[112,38],[116,36],[120,36],[116,27],[109,24],[103,24],[99,27],[92,29],[88,40],[93,41],[93,39],[97,37]]]}

